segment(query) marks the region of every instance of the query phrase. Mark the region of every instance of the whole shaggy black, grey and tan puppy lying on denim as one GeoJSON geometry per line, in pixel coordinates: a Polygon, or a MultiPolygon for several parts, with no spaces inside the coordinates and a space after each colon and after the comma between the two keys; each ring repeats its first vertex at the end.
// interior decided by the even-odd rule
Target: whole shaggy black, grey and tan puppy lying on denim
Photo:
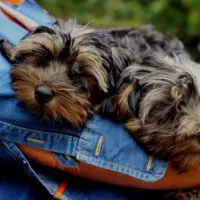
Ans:
{"type": "Polygon", "coordinates": [[[41,117],[84,125],[94,105],[179,170],[200,164],[200,67],[182,43],[147,26],[38,27],[6,50],[17,97],[41,117]]]}

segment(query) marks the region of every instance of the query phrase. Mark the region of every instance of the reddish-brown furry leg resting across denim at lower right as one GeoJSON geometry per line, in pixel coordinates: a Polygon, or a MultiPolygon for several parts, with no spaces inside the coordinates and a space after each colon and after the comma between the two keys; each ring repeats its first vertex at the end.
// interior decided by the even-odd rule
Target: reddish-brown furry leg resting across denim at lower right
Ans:
{"type": "Polygon", "coordinates": [[[196,145],[192,138],[180,140],[179,136],[174,134],[159,134],[153,130],[155,125],[143,125],[137,118],[129,119],[125,127],[147,152],[155,157],[170,160],[178,173],[199,168],[200,153],[190,151],[193,145],[196,145]]]}

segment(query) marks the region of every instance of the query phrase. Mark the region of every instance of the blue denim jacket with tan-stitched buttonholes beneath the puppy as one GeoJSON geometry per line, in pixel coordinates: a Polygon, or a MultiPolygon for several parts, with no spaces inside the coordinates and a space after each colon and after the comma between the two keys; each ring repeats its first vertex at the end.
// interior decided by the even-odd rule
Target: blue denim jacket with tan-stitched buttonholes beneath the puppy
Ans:
{"type": "MultiPolygon", "coordinates": [[[[20,6],[0,2],[1,6],[36,24],[48,25],[53,22],[33,0],[27,0],[20,6]]],[[[26,33],[27,30],[0,13],[1,38],[17,44],[26,33]]],[[[64,166],[75,167],[81,161],[149,182],[164,176],[167,162],[148,155],[125,130],[123,124],[97,115],[90,118],[82,129],[75,130],[69,128],[65,121],[53,124],[30,113],[15,97],[10,69],[10,63],[0,54],[0,149],[6,152],[1,156],[4,159],[6,154],[12,157],[24,172],[42,184],[51,195],[54,195],[59,180],[40,168],[34,168],[16,143],[49,150],[64,166]]],[[[75,191],[76,188],[71,188],[71,192],[66,190],[61,199],[84,199],[81,196],[78,198],[75,191]]],[[[90,198],[85,196],[85,199],[90,198]]]]}

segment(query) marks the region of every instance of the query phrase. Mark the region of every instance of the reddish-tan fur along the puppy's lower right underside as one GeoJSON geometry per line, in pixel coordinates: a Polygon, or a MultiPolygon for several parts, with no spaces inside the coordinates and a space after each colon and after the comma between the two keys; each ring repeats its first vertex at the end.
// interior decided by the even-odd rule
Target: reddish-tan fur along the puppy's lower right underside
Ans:
{"type": "Polygon", "coordinates": [[[199,167],[200,145],[198,140],[194,140],[195,132],[188,135],[172,135],[170,132],[147,135],[143,128],[151,130],[153,126],[144,126],[137,118],[130,119],[125,126],[134,133],[136,139],[140,138],[140,141],[146,144],[145,148],[149,152],[171,160],[178,171],[182,172],[199,167]],[[162,151],[164,146],[167,148],[165,152],[162,151]],[[186,152],[187,156],[185,156],[186,152]]]}

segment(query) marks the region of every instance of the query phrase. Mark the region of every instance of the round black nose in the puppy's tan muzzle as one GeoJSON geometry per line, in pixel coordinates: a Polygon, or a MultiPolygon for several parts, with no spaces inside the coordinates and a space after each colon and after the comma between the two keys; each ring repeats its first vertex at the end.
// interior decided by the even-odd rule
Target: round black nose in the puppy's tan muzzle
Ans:
{"type": "Polygon", "coordinates": [[[35,90],[35,98],[39,103],[45,104],[53,98],[53,92],[47,86],[39,86],[35,90]]]}

